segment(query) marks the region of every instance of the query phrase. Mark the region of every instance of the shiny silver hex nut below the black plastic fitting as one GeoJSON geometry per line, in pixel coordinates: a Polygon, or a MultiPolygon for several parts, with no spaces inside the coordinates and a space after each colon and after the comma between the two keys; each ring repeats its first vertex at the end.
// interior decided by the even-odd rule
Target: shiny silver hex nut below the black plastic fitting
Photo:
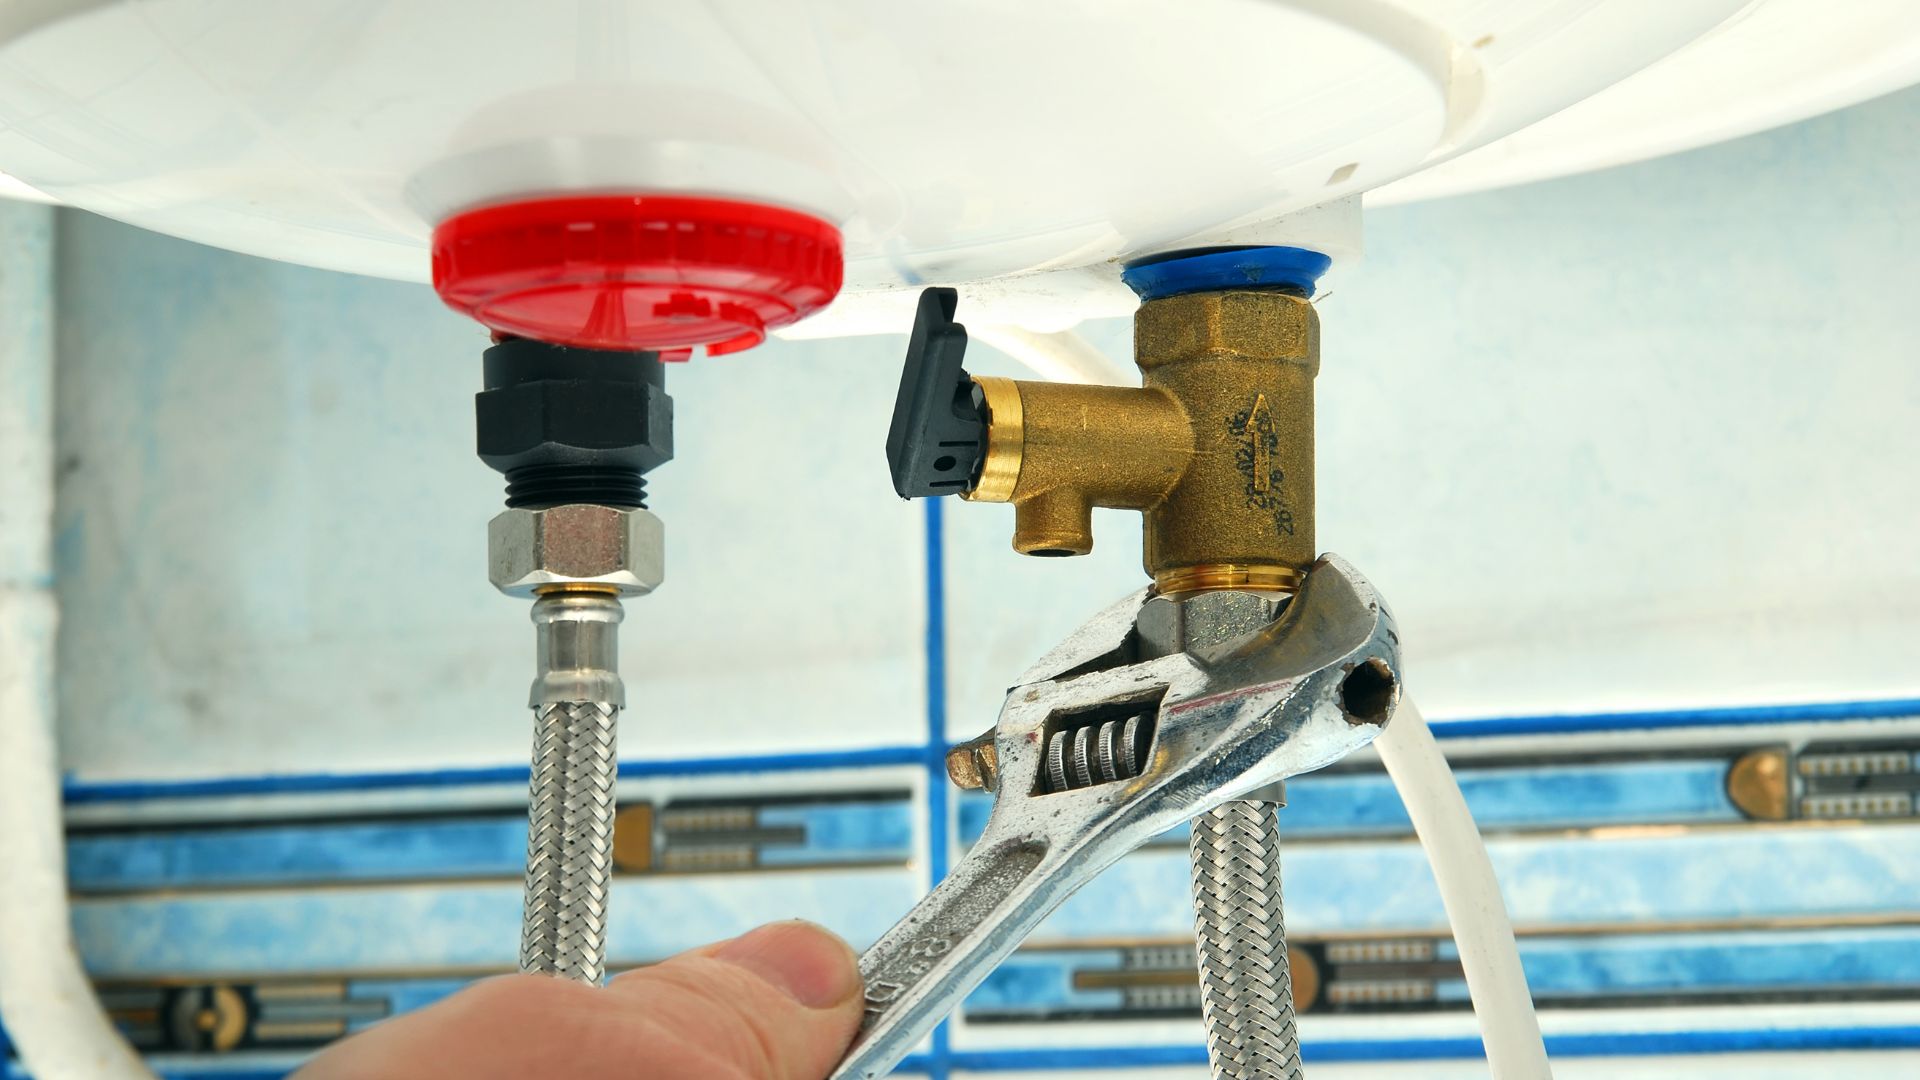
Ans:
{"type": "Polygon", "coordinates": [[[507,596],[597,584],[645,596],[666,577],[666,528],[645,509],[572,503],[488,523],[488,580],[507,596]]]}

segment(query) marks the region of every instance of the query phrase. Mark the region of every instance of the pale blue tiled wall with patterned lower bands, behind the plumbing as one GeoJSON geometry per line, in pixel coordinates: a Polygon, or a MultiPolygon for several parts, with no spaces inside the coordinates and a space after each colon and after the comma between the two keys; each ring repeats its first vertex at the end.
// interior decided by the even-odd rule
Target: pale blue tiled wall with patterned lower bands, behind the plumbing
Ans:
{"type": "MultiPolygon", "coordinates": [[[[1321,540],[1455,721],[1565,1076],[1920,1070],[1914,144],[1920,92],[1380,211],[1321,300],[1321,540]],[[1755,755],[1782,819],[1728,794],[1755,755]]],[[[276,1074],[507,969],[532,634],[484,580],[482,334],[84,215],[58,302],[69,847],[109,1005],[184,1074],[276,1074]]],[[[616,965],[789,915],[877,936],[979,830],[945,742],[1139,584],[1127,515],[1037,561],[1004,507],[895,500],[900,346],[670,373],[616,965]]],[[[1315,1074],[1475,1074],[1375,767],[1296,782],[1283,830],[1315,1074]]],[[[1129,857],[914,1067],[1196,1076],[1185,878],[1177,838],[1129,857]]]]}

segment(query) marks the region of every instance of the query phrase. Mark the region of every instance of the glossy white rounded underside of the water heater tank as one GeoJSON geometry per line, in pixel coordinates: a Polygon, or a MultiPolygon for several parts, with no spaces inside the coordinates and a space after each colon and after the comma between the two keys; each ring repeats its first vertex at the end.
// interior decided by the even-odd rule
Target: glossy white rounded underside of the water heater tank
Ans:
{"type": "MultiPolygon", "coordinates": [[[[1119,269],[1154,254],[1292,242],[1338,265],[1354,196],[1440,161],[1402,192],[1630,160],[1912,81],[1903,8],[21,0],[0,8],[0,169],[161,233],[409,281],[430,277],[436,227],[503,204],[770,208],[824,223],[835,281],[791,252],[716,252],[662,209],[643,227],[701,233],[684,261],[603,246],[561,275],[582,296],[520,265],[515,298],[655,346],[678,319],[682,344],[739,348],[803,315],[806,334],[897,331],[943,282],[975,321],[1050,331],[1127,311],[1119,269]],[[1553,113],[1615,85],[1597,123],[1569,110],[1553,136],[1553,113]],[[1718,115],[1688,119],[1693,98],[1718,115]]],[[[561,233],[484,240],[572,259],[568,229],[609,225],[541,221],[561,233]]]]}

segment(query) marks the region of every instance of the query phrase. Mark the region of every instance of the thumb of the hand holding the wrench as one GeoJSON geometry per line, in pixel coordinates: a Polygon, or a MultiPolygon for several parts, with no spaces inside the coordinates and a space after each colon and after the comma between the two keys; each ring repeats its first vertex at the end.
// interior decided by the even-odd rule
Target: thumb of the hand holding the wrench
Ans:
{"type": "Polygon", "coordinates": [[[799,920],[630,970],[607,990],[657,1026],[647,1061],[662,1080],[820,1080],[862,1009],[852,949],[799,920]]]}

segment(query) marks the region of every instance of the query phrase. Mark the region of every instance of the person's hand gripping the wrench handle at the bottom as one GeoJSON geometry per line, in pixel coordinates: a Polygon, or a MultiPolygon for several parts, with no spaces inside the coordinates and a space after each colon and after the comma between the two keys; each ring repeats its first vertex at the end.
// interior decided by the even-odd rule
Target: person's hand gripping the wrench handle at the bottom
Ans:
{"type": "Polygon", "coordinates": [[[845,942],[772,922],[605,988],[488,978],[326,1047],[292,1080],[822,1080],[860,999],[845,942]]]}

